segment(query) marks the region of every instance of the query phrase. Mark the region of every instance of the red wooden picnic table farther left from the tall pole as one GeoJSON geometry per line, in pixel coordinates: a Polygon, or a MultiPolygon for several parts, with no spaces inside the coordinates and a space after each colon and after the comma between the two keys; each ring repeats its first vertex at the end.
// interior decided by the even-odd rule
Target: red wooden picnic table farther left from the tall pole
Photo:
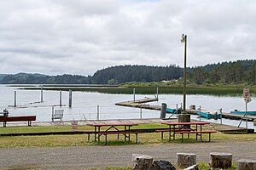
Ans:
{"type": "Polygon", "coordinates": [[[106,140],[107,140],[108,134],[117,134],[119,139],[120,133],[122,133],[125,136],[125,141],[126,139],[130,141],[131,127],[137,126],[138,124],[133,122],[104,122],[104,123],[91,122],[88,125],[94,127],[95,141],[96,139],[100,141],[100,137],[102,134],[106,136],[106,140]],[[108,127],[108,128],[103,130],[101,127],[108,127]],[[124,128],[122,129],[122,127],[124,128]]]}

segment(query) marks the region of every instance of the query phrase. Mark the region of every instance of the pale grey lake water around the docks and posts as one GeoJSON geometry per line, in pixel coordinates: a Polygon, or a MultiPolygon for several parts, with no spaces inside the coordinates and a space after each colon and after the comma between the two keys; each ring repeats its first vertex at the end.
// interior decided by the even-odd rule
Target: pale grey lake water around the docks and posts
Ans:
{"type": "MultiPolygon", "coordinates": [[[[37,122],[50,122],[52,108],[50,105],[60,104],[59,91],[44,90],[44,103],[30,104],[41,100],[40,90],[22,90],[17,87],[0,86],[0,109],[8,108],[9,116],[36,115],[37,122]],[[27,108],[12,108],[14,105],[14,92],[17,93],[17,105],[26,105],[27,108]]],[[[136,95],[136,99],[145,97],[154,98],[154,95],[136,95]]],[[[183,95],[160,94],[158,102],[151,105],[161,105],[166,103],[169,108],[176,108],[183,102],[183,95]]],[[[248,111],[256,111],[256,98],[248,104],[248,111]]],[[[62,92],[62,105],[68,105],[68,92],[62,92]]],[[[73,107],[55,107],[64,110],[64,121],[68,120],[95,120],[97,117],[97,105],[100,108],[100,119],[132,119],[140,118],[140,109],[114,105],[121,101],[133,100],[132,94],[100,94],[90,92],[73,92],[73,107]]],[[[241,97],[229,96],[210,96],[210,95],[187,95],[187,105],[201,105],[202,108],[217,111],[222,108],[224,112],[234,111],[235,109],[244,111],[245,102],[241,97]]],[[[143,110],[143,118],[159,118],[160,111],[143,110]]],[[[167,115],[168,116],[168,115],[167,115]]],[[[197,116],[192,116],[197,119],[197,116]]],[[[203,119],[202,119],[203,120],[203,119]]],[[[209,120],[204,120],[209,121],[209,120]]],[[[210,122],[219,122],[210,120],[210,122]]],[[[223,120],[224,124],[237,126],[239,121],[223,120]]],[[[245,127],[245,123],[241,124],[245,127]]],[[[253,127],[253,122],[248,122],[249,127],[253,127]]]]}

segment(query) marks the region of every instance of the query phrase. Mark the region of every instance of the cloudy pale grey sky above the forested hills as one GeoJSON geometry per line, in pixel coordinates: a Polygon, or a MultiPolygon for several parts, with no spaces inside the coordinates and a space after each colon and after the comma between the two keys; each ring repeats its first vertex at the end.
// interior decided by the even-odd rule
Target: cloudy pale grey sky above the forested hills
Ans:
{"type": "Polygon", "coordinates": [[[0,0],[0,73],[256,59],[256,1],[0,0]]]}

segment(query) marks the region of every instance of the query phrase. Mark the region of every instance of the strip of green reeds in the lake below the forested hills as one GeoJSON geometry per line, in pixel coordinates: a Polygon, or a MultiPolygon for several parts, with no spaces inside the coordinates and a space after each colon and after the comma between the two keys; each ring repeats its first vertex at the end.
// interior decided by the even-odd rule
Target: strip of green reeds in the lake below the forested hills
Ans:
{"type": "MultiPolygon", "coordinates": [[[[163,83],[135,83],[135,84],[123,84],[118,88],[109,87],[45,87],[46,90],[62,90],[62,91],[81,91],[81,92],[97,92],[103,94],[133,94],[133,88],[136,88],[136,94],[156,94],[156,88],[159,87],[160,94],[183,94],[183,86],[168,85],[163,83]]],[[[244,86],[196,86],[188,85],[186,88],[186,94],[207,94],[218,96],[241,96],[244,86]]],[[[21,89],[41,89],[41,88],[21,88],[21,89]]],[[[250,87],[251,95],[256,96],[256,86],[250,87]]]]}

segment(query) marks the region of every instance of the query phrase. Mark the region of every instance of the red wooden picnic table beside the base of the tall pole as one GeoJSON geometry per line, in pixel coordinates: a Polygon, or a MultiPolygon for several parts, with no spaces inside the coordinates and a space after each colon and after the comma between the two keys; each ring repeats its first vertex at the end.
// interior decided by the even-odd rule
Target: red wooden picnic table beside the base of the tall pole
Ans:
{"type": "MultiPolygon", "coordinates": [[[[196,134],[196,140],[197,136],[200,136],[202,133],[209,133],[209,141],[210,141],[210,134],[214,133],[213,131],[202,131],[203,125],[208,125],[210,122],[161,122],[161,124],[166,124],[169,126],[168,132],[169,132],[169,141],[171,140],[171,137],[173,140],[175,140],[175,134],[181,133],[183,136],[183,133],[195,133],[196,134]],[[195,128],[192,128],[190,125],[195,125],[195,128]],[[179,126],[179,127],[177,127],[179,126]],[[198,129],[198,126],[200,126],[200,129],[198,129]]],[[[163,133],[162,133],[163,138],[163,133]]]]}

